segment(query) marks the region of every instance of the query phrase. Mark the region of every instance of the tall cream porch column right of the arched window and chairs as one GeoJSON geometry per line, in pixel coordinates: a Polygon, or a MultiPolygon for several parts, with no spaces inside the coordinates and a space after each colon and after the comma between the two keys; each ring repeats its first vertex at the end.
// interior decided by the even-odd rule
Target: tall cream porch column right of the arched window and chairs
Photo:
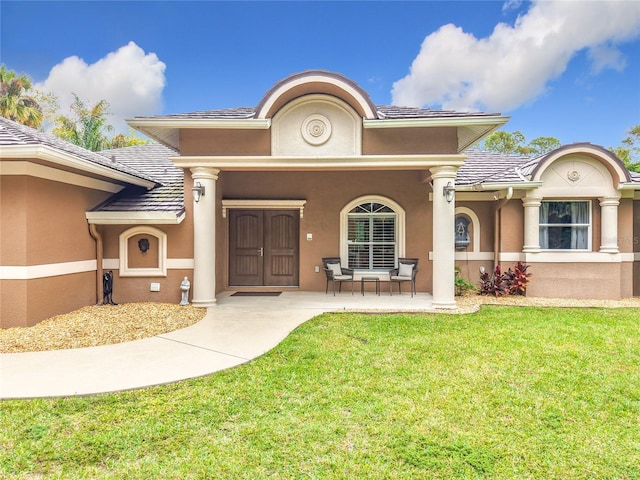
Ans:
{"type": "Polygon", "coordinates": [[[448,202],[444,187],[455,186],[456,167],[431,169],[433,180],[433,306],[456,308],[455,195],[448,202]]]}

